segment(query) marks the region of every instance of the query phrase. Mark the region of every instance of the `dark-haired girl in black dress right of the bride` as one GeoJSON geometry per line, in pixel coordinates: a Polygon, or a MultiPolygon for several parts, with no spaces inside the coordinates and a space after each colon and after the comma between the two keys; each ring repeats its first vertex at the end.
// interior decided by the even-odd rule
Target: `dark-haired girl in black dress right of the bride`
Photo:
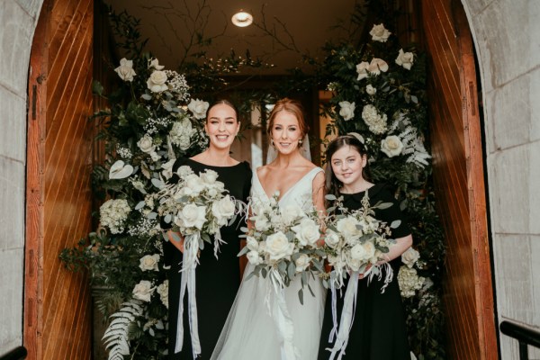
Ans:
{"type": "MultiPolygon", "coordinates": [[[[329,159],[326,169],[328,193],[343,196],[344,206],[349,210],[357,210],[362,207],[362,198],[367,192],[371,205],[377,202],[392,202],[388,209],[375,210],[376,219],[388,224],[401,220],[401,225],[392,229],[392,238],[396,239],[396,244],[390,247],[390,252],[386,255],[394,273],[392,282],[384,293],[381,293],[384,276],[381,281],[375,276],[370,284],[367,279],[361,278],[358,281],[355,317],[342,359],[410,360],[405,313],[397,280],[401,254],[412,245],[409,226],[390,189],[384,184],[367,181],[365,148],[355,136],[345,135],[333,140],[327,148],[326,156],[329,159]]],[[[329,343],[333,324],[331,297],[328,296],[327,299],[320,335],[320,360],[329,359],[330,352],[327,348],[334,346],[329,343]]],[[[337,300],[339,322],[343,298],[338,295],[337,300]]]]}

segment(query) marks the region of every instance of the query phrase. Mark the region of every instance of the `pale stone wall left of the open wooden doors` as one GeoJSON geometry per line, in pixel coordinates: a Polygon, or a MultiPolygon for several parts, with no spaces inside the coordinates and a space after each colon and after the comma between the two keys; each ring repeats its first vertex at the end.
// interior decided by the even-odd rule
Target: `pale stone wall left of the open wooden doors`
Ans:
{"type": "Polygon", "coordinates": [[[0,1],[0,355],[23,344],[26,85],[42,2],[0,1]]]}

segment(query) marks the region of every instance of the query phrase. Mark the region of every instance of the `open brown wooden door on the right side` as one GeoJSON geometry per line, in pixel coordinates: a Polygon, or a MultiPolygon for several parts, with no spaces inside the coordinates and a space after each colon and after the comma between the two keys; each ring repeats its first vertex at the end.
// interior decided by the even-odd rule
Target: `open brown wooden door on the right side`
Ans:
{"type": "Polygon", "coordinates": [[[447,354],[496,359],[482,127],[473,42],[463,6],[422,1],[437,211],[446,234],[447,354]]]}

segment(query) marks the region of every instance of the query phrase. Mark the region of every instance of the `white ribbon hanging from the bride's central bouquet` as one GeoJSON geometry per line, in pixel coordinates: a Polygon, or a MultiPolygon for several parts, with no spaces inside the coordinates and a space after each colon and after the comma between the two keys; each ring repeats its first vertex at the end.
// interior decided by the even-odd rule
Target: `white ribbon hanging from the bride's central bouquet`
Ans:
{"type": "MultiPolygon", "coordinates": [[[[270,270],[268,276],[274,288],[275,302],[273,302],[272,307],[268,302],[267,305],[271,311],[271,316],[275,320],[277,333],[280,337],[281,360],[296,360],[300,357],[300,354],[298,348],[294,347],[294,324],[287,309],[287,302],[285,302],[284,282],[275,269],[270,270]]],[[[268,298],[266,298],[266,301],[268,301],[268,298]]]]}

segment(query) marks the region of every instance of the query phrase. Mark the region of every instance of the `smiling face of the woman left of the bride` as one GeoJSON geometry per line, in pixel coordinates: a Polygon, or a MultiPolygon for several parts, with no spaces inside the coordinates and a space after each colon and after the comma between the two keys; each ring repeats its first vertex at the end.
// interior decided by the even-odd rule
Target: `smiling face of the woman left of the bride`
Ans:
{"type": "Polygon", "coordinates": [[[204,130],[210,138],[211,147],[230,148],[240,130],[235,110],[225,103],[212,106],[204,130]]]}

